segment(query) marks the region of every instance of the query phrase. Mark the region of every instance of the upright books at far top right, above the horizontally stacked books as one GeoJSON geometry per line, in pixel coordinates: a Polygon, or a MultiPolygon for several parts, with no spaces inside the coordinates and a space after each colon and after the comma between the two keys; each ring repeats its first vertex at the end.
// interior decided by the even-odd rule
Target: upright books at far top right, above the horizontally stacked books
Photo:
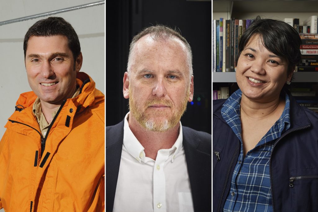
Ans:
{"type": "Polygon", "coordinates": [[[299,23],[299,18],[285,18],[284,21],[294,27],[299,33],[318,33],[317,31],[317,16],[310,16],[304,22],[303,25],[299,23]]]}

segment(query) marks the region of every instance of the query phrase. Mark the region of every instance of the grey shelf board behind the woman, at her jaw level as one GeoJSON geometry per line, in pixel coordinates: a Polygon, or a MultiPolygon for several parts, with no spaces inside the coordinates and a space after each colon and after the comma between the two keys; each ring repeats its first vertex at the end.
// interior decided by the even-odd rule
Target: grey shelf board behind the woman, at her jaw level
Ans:
{"type": "MultiPolygon", "coordinates": [[[[213,83],[236,82],[235,72],[213,72],[213,83]]],[[[318,72],[294,72],[292,82],[318,82],[318,72]]]]}

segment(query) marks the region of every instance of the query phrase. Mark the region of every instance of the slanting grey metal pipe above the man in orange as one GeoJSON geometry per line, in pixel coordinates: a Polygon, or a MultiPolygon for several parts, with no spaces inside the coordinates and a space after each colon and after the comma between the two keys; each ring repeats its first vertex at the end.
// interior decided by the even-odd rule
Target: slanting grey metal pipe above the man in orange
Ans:
{"type": "Polygon", "coordinates": [[[68,11],[72,11],[72,10],[79,10],[79,9],[83,9],[83,8],[87,8],[87,7],[93,7],[93,6],[98,6],[98,5],[102,5],[105,3],[105,0],[103,1],[98,1],[98,2],[93,2],[93,3],[88,3],[88,4],[82,4],[79,6],[74,6],[74,7],[68,7],[65,9],[60,9],[60,10],[54,10],[51,12],[44,12],[44,13],[40,13],[37,15],[31,15],[31,16],[25,16],[25,17],[21,17],[21,18],[15,18],[15,19],[11,19],[8,21],[1,21],[0,22],[0,26],[1,25],[5,25],[5,24],[12,24],[12,23],[16,23],[16,22],[20,22],[20,21],[26,21],[29,19],[34,19],[34,18],[39,18],[39,17],[45,17],[45,16],[51,16],[51,15],[55,15],[58,13],[62,13],[62,12],[68,12],[68,11]]]}

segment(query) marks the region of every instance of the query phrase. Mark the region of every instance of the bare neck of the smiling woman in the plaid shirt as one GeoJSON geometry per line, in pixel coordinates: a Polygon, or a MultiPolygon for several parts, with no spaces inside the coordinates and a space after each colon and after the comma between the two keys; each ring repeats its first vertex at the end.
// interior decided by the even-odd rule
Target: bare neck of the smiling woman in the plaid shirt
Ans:
{"type": "Polygon", "coordinates": [[[257,101],[242,95],[240,106],[241,114],[244,113],[252,119],[262,119],[274,115],[276,112],[282,112],[285,101],[280,96],[267,101],[257,101]]]}

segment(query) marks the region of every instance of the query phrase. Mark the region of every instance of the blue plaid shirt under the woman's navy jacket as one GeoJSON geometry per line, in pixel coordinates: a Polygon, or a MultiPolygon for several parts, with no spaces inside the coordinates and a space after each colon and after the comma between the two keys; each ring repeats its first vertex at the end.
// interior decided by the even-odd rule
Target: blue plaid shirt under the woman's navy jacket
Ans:
{"type": "Polygon", "coordinates": [[[274,142],[290,127],[289,97],[285,94],[286,105],[280,118],[271,129],[250,150],[243,155],[242,130],[240,120],[241,90],[234,92],[224,103],[221,113],[241,141],[240,154],[235,164],[230,192],[227,195],[224,212],[273,211],[269,158],[274,142]]]}

